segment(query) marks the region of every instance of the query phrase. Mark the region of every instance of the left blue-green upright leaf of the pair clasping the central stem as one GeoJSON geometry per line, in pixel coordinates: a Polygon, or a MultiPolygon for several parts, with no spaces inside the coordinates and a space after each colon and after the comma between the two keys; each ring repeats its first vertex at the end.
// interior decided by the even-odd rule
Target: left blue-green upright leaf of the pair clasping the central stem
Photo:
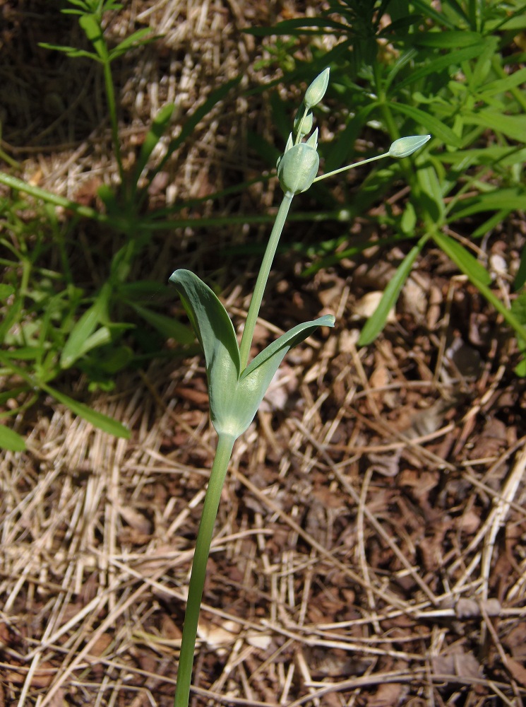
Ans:
{"type": "Polygon", "coordinates": [[[193,272],[176,270],[169,280],[179,292],[205,354],[210,419],[218,434],[231,434],[234,424],[232,395],[241,373],[234,326],[215,293],[193,272]]]}

